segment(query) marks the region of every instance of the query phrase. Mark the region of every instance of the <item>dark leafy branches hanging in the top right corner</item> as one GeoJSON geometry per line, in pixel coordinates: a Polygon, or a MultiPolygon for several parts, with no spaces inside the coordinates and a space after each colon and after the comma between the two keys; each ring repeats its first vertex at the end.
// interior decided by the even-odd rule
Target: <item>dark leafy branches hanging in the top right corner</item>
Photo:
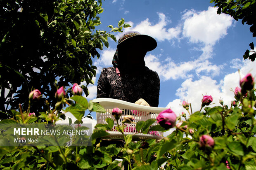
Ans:
{"type": "MultiPolygon", "coordinates": [[[[244,23],[251,25],[250,31],[252,36],[256,36],[256,3],[255,0],[211,0],[211,3],[215,3],[214,7],[218,7],[217,14],[229,14],[236,21],[242,19],[244,23]]],[[[251,61],[255,60],[256,52],[254,51],[253,42],[249,44],[252,54],[249,55],[249,50],[244,53],[244,59],[249,58],[251,61]]]]}

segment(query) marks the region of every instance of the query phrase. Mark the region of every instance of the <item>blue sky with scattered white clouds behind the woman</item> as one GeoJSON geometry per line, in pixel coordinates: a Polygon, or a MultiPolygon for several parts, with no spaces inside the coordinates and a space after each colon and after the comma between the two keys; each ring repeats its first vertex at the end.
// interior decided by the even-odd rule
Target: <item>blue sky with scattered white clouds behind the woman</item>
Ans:
{"type": "MultiPolygon", "coordinates": [[[[201,106],[202,95],[212,95],[213,103],[223,99],[230,106],[239,86],[239,74],[256,75],[255,62],[244,61],[244,52],[255,39],[248,25],[226,14],[218,15],[210,0],[106,0],[100,14],[100,30],[117,26],[121,18],[136,30],[154,37],[158,46],[145,56],[146,66],[158,72],[161,85],[159,107],[171,107],[176,114],[185,112],[183,100],[193,111],[201,106]]],[[[121,33],[114,33],[117,39],[121,33]]],[[[254,44],[256,44],[254,42],[254,44]]],[[[96,98],[97,80],[111,61],[117,43],[109,38],[109,48],[99,51],[95,84],[89,85],[88,100],[96,98]]],[[[95,114],[92,114],[96,118],[95,114]]]]}

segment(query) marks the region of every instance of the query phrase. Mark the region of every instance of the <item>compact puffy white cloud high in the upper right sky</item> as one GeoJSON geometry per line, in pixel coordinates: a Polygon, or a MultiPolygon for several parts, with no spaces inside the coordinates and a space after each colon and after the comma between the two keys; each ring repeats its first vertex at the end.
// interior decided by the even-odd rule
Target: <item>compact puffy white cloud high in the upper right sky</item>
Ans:
{"type": "Polygon", "coordinates": [[[232,17],[227,14],[217,15],[217,8],[208,7],[207,11],[190,10],[183,15],[185,19],[183,36],[190,42],[214,45],[216,41],[227,35],[227,29],[232,25],[232,17]]]}

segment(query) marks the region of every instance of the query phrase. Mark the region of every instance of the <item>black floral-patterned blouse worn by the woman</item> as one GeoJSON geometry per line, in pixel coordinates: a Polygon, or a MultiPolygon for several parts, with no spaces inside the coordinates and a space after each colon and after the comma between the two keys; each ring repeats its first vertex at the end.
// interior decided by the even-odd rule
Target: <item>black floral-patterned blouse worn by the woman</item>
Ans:
{"type": "Polygon", "coordinates": [[[140,98],[150,106],[159,102],[160,80],[156,72],[145,67],[136,75],[119,76],[115,67],[103,68],[97,85],[97,98],[114,98],[136,102],[140,98]]]}

